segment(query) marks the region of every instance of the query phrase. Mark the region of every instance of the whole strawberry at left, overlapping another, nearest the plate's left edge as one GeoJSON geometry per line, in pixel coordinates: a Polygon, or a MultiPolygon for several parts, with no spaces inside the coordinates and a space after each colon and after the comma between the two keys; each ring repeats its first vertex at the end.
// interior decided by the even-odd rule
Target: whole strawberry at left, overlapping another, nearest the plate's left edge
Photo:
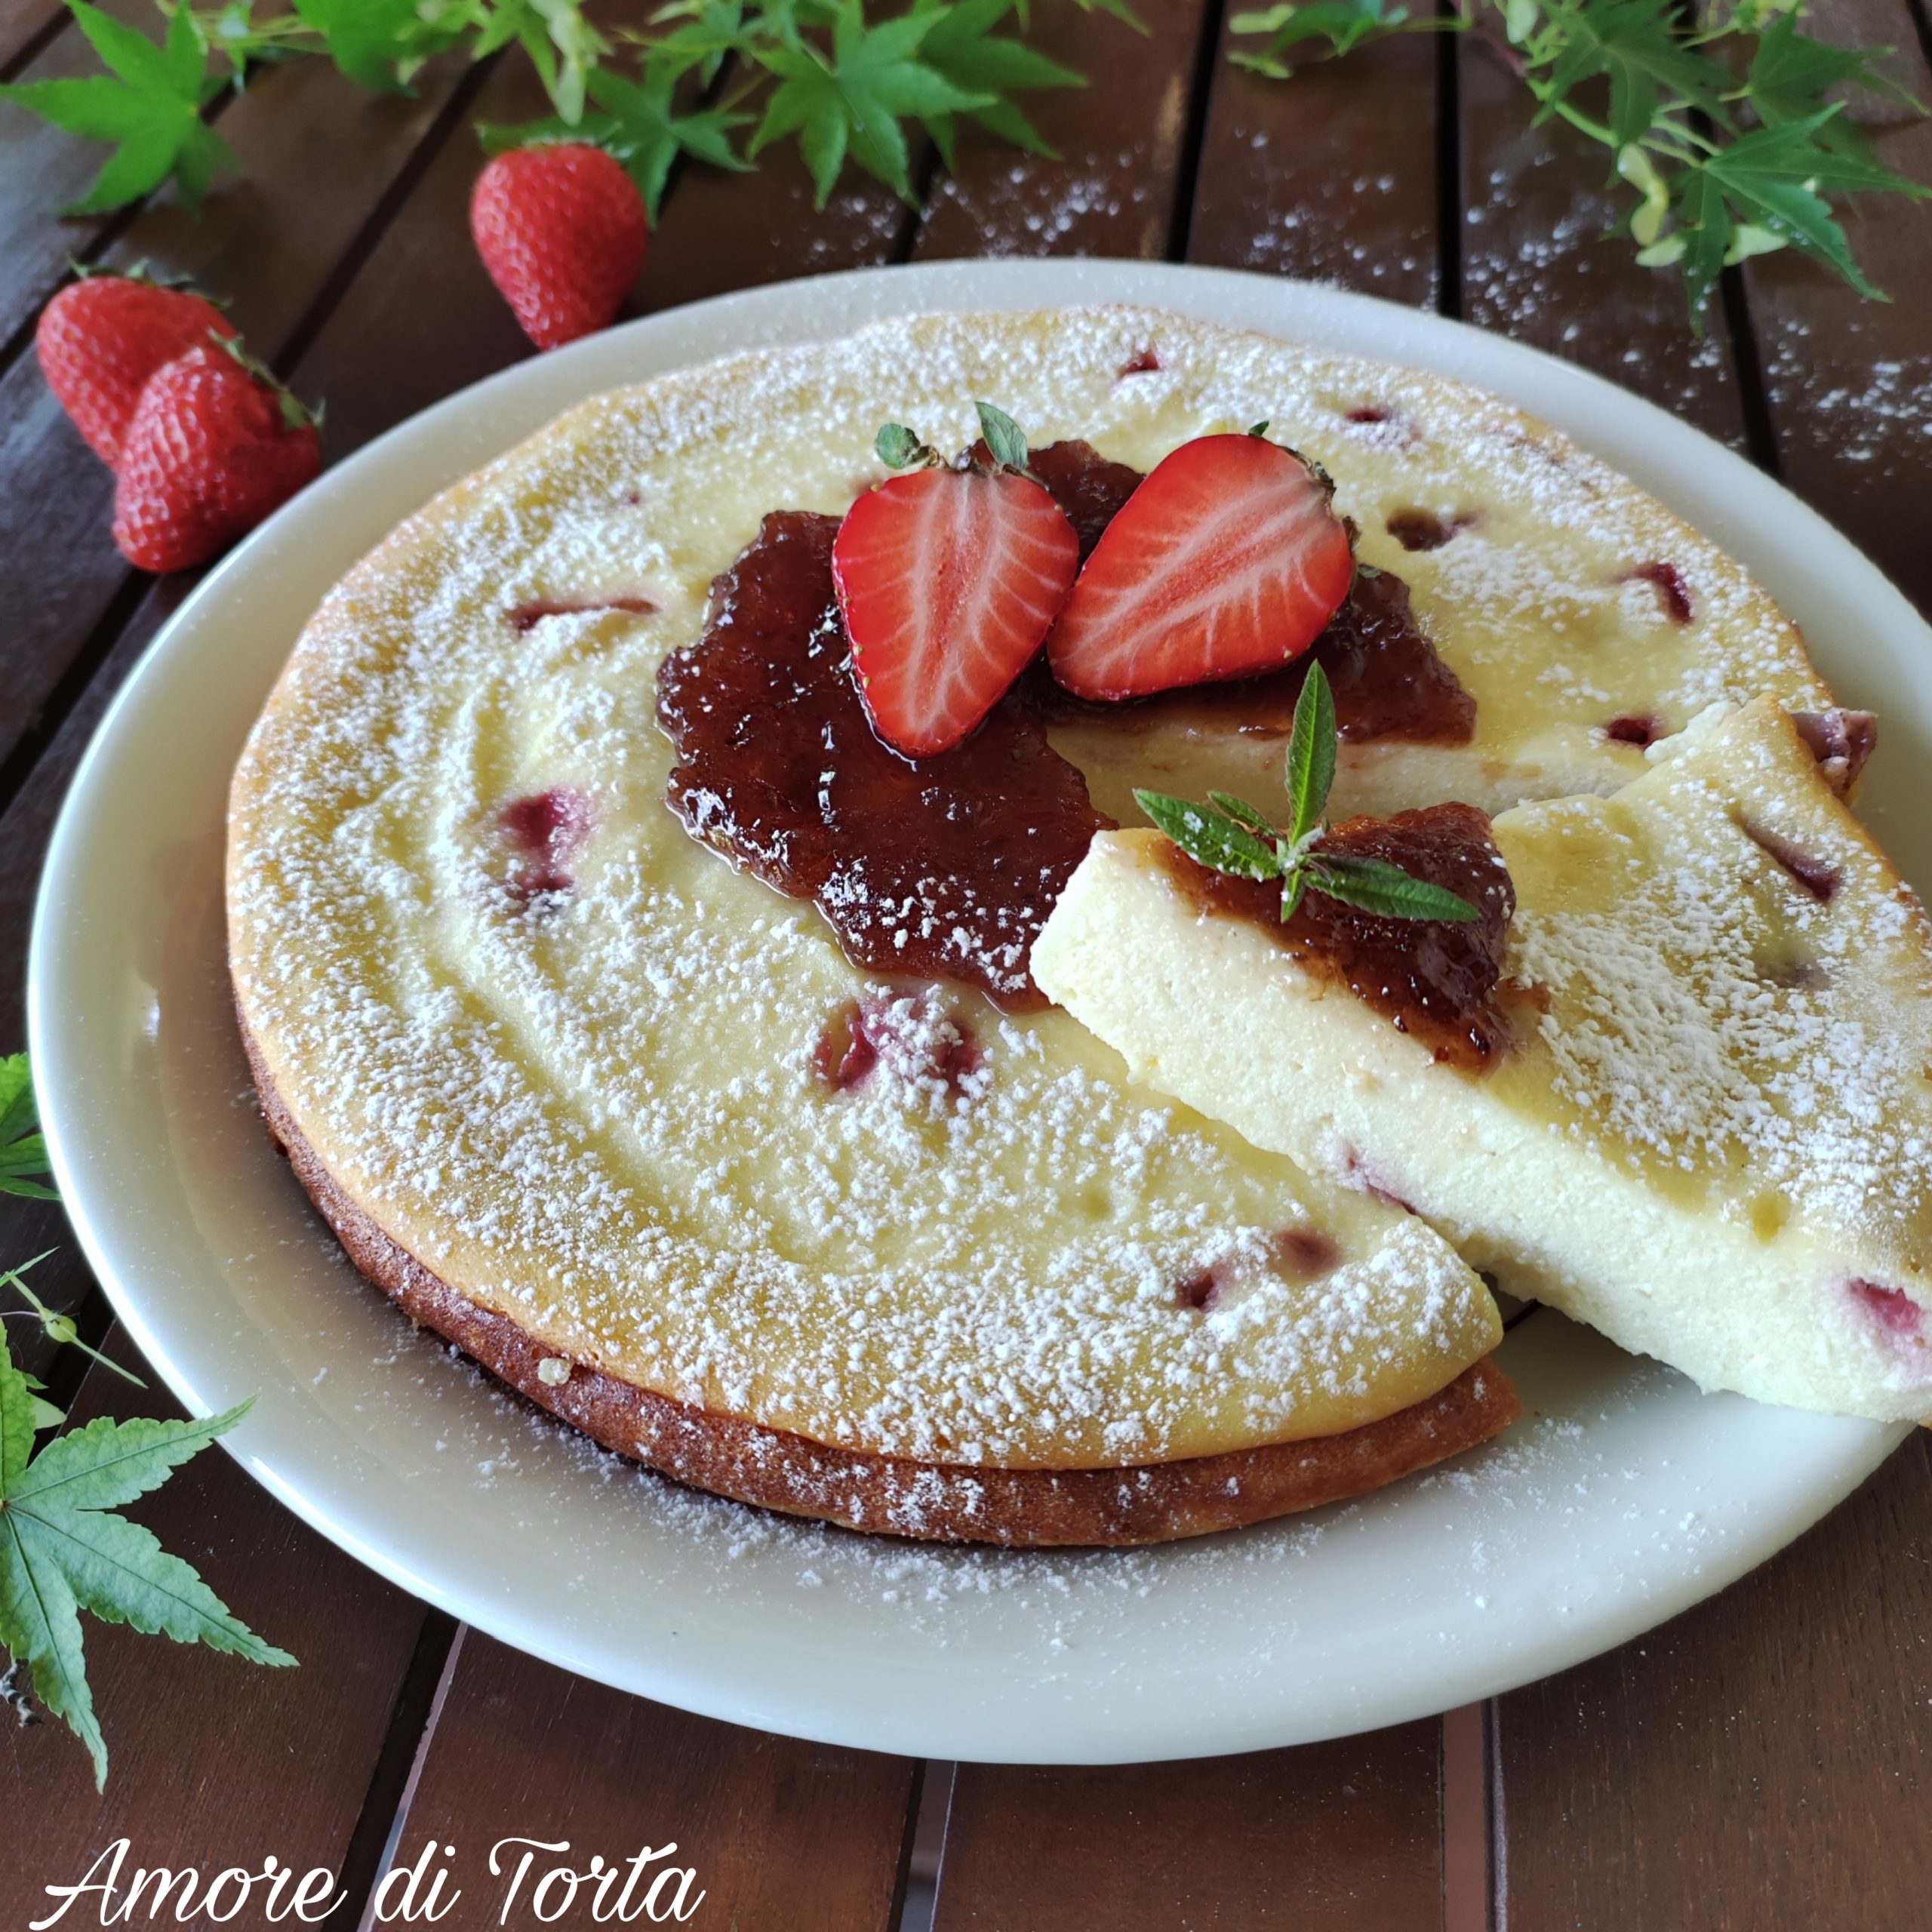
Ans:
{"type": "Polygon", "coordinates": [[[323,468],[315,417],[240,344],[160,369],[128,425],[114,541],[137,570],[207,562],[323,468]]]}

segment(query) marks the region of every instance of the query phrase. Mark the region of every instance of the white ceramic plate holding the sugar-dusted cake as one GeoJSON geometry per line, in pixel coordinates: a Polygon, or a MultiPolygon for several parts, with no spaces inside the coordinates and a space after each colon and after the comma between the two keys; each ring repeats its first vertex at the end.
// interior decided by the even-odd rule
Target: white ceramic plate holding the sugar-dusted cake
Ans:
{"type": "Polygon", "coordinates": [[[825,276],[522,363],[328,471],[156,639],[68,798],[31,980],[54,1169],[116,1310],[180,1399],[205,1412],[259,1393],[226,1447],[290,1509],[510,1644],[713,1718],[1034,1762],[1393,1723],[1673,1615],[1814,1522],[1903,1434],[1698,1395],[1540,1312],[1503,1349],[1526,1420],[1381,1495],[1136,1553],[929,1549],[643,1476],[506,1401],[340,1258],[255,1117],[220,904],[228,771],[321,595],[433,491],[593,390],[877,315],[1094,299],[1466,377],[1636,477],[1758,572],[1847,701],[1884,713],[1864,804],[1907,875],[1932,883],[1932,833],[1911,810],[1932,744],[1932,634],[1905,599],[1663,412],[1360,296],[1148,263],[825,276]]]}

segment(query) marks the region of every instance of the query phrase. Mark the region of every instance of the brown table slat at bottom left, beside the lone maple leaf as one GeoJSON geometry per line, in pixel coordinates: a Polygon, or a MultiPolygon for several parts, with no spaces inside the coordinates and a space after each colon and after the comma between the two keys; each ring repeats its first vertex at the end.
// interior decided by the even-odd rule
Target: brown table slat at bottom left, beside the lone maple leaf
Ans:
{"type": "MultiPolygon", "coordinates": [[[[120,1343],[116,1354],[139,1360],[120,1343]]],[[[75,1420],[102,1412],[178,1410],[95,1370],[75,1420]]],[[[43,1888],[73,1884],[124,1835],[129,1866],[259,1872],[274,1853],[298,1870],[340,1868],[404,1690],[423,1607],[303,1528],[220,1449],[128,1513],[301,1667],[259,1669],[89,1619],[108,1789],[97,1797],[66,1729],[4,1725],[0,1924],[43,1917],[43,1888]]]]}

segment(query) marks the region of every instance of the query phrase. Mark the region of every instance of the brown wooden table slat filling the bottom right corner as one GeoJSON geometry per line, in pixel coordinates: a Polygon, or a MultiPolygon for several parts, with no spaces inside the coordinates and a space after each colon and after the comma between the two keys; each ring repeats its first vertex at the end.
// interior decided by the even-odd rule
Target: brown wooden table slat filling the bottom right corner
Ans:
{"type": "Polygon", "coordinates": [[[1513,1932],[1922,1926],[1928,1522],[1918,1434],[1723,1596],[1503,1698],[1513,1932]]]}

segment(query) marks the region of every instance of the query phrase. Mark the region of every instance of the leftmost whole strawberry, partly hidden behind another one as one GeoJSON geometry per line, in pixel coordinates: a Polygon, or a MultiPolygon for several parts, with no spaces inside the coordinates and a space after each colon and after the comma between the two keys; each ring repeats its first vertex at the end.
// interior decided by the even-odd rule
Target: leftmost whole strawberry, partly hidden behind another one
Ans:
{"type": "Polygon", "coordinates": [[[112,469],[133,406],[162,365],[234,327],[185,288],[160,288],[139,270],[70,282],[41,311],[33,346],[41,373],[87,446],[112,469]]]}

